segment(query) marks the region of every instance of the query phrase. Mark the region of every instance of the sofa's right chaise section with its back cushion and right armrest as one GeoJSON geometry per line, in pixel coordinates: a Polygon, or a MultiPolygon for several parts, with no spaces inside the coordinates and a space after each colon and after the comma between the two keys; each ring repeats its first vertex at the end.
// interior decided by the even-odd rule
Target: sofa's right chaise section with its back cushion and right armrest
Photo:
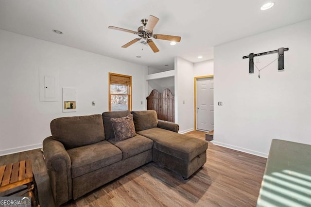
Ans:
{"type": "Polygon", "coordinates": [[[158,122],[156,112],[153,110],[131,113],[136,132],[154,141],[152,155],[154,162],[182,175],[184,179],[188,179],[204,165],[207,142],[176,133],[179,127],[177,129],[173,123],[164,125],[158,122]],[[156,123],[157,127],[153,127],[150,123],[156,123]]]}

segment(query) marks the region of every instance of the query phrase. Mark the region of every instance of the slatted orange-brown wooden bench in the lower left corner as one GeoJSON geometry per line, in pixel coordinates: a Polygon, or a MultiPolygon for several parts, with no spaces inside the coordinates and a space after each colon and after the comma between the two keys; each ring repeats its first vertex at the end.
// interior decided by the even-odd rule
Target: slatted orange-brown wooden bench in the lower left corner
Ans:
{"type": "Polygon", "coordinates": [[[34,196],[35,184],[31,160],[27,159],[0,166],[0,192],[8,191],[23,185],[27,185],[27,188],[14,191],[6,196],[27,189],[28,196],[30,196],[32,200],[32,206],[37,206],[34,196]]]}

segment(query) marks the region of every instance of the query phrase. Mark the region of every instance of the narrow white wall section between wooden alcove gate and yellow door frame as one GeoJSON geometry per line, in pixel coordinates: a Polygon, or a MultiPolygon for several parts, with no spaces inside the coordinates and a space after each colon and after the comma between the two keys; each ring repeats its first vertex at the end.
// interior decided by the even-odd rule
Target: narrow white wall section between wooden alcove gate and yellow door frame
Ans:
{"type": "Polygon", "coordinates": [[[185,133],[194,129],[193,63],[176,57],[175,73],[175,122],[179,133],[185,133]]]}

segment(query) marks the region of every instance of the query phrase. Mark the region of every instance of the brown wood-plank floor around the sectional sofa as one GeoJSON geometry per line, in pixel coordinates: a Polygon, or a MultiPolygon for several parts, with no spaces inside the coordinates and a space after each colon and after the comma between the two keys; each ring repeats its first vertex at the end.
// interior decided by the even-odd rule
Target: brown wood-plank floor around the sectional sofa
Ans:
{"type": "MultiPolygon", "coordinates": [[[[190,136],[205,139],[205,132],[190,136]]],[[[40,149],[0,157],[0,165],[32,159],[41,207],[53,207],[40,149]]],[[[150,162],[70,201],[66,207],[244,207],[256,206],[266,159],[209,143],[207,162],[188,180],[150,162]]]]}

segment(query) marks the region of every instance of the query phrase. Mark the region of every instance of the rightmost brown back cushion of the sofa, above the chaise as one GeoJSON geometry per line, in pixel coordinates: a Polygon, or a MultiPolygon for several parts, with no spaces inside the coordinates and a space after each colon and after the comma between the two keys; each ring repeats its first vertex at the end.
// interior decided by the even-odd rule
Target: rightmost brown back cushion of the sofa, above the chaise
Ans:
{"type": "Polygon", "coordinates": [[[154,110],[131,111],[136,132],[157,126],[157,115],[154,110]]]}

